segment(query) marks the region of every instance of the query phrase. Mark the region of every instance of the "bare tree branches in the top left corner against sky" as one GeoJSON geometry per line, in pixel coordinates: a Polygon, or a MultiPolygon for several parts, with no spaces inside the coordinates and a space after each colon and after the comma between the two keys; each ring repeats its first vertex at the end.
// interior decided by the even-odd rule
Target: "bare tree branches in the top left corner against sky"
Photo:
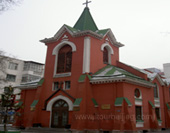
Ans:
{"type": "Polygon", "coordinates": [[[16,6],[21,0],[0,0],[0,13],[9,10],[12,6],[16,6]]]}

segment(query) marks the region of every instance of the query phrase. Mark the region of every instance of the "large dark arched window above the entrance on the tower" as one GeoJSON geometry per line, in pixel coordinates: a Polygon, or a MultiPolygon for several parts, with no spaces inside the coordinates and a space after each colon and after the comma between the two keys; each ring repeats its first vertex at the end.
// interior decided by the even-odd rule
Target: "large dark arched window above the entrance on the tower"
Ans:
{"type": "Polygon", "coordinates": [[[72,48],[63,46],[58,52],[57,73],[71,72],[72,48]]]}

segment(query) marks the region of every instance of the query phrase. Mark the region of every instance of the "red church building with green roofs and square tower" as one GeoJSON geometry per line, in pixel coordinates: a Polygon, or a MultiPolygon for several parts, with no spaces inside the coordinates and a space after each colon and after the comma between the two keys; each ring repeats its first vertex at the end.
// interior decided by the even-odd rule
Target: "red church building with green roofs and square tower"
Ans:
{"type": "Polygon", "coordinates": [[[170,127],[170,86],[156,73],[119,61],[111,29],[98,29],[88,7],[47,46],[44,78],[21,85],[16,125],[72,131],[138,131],[170,127]]]}

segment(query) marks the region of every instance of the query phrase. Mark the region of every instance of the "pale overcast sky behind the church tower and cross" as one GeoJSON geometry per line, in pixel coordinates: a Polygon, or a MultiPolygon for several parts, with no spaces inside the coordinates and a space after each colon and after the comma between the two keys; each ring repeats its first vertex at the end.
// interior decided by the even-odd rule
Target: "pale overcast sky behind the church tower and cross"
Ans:
{"type": "MultiPolygon", "coordinates": [[[[0,14],[0,50],[22,60],[45,63],[46,46],[67,24],[74,26],[85,0],[24,0],[0,14]]],[[[139,68],[170,63],[170,0],[92,0],[90,12],[99,29],[111,28],[120,61],[139,68]]]]}

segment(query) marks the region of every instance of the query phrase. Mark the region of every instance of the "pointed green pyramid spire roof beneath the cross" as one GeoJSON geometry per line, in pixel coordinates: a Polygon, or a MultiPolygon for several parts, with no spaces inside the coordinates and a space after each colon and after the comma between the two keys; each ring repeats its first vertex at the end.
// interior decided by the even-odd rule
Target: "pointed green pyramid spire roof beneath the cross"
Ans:
{"type": "Polygon", "coordinates": [[[80,18],[78,19],[78,21],[76,22],[73,28],[79,29],[81,31],[85,31],[85,30],[97,31],[98,30],[88,7],[84,9],[83,13],[81,14],[80,18]]]}

